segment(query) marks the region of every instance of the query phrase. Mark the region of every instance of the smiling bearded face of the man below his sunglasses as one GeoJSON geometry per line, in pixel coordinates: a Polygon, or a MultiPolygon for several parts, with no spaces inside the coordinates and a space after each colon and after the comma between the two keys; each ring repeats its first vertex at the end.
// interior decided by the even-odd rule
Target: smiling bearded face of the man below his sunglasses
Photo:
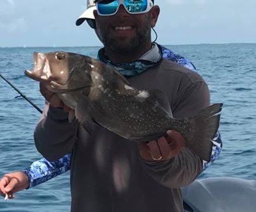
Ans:
{"type": "Polygon", "coordinates": [[[139,47],[151,43],[150,12],[131,15],[123,5],[111,16],[99,16],[94,11],[97,34],[104,46],[120,54],[132,53],[139,47]]]}

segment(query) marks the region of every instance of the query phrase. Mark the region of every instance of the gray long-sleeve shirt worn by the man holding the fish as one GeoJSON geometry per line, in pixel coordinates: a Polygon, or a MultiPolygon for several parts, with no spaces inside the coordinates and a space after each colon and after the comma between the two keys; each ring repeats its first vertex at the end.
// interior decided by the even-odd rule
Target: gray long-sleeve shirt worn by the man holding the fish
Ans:
{"type": "MultiPolygon", "coordinates": [[[[138,89],[165,92],[175,118],[210,104],[202,77],[165,59],[128,80],[138,89]]],[[[48,105],[35,129],[35,145],[49,160],[72,151],[72,212],[181,212],[180,188],[202,171],[202,160],[186,147],[169,161],[147,162],[135,142],[96,124],[88,134],[77,121],[68,123],[65,111],[48,105]]]]}

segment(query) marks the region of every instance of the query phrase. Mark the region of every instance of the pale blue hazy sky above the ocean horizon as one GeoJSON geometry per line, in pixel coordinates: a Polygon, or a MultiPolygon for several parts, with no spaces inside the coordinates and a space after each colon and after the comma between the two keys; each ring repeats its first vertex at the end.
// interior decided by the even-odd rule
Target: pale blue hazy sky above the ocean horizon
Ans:
{"type": "MultiPolygon", "coordinates": [[[[255,0],[155,0],[160,44],[256,43],[255,0]]],[[[0,47],[101,46],[75,20],[86,0],[0,0],[0,47]]]]}

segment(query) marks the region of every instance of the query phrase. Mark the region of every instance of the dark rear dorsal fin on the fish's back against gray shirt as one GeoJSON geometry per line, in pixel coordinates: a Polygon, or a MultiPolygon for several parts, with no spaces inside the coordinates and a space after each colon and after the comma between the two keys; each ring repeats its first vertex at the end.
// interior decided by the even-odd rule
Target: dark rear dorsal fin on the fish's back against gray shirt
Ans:
{"type": "Polygon", "coordinates": [[[165,113],[172,118],[172,111],[170,109],[170,104],[167,96],[162,92],[162,90],[150,90],[149,96],[146,101],[149,101],[156,108],[161,108],[165,113]]]}

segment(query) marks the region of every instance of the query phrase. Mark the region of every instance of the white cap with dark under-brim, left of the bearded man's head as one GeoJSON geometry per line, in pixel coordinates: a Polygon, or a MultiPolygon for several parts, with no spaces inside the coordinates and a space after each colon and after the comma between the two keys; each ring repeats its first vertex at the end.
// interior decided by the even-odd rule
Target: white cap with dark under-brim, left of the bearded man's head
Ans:
{"type": "Polygon", "coordinates": [[[96,9],[94,0],[87,0],[87,8],[82,15],[77,19],[75,25],[80,26],[86,20],[91,28],[96,28],[93,11],[96,9]]]}

